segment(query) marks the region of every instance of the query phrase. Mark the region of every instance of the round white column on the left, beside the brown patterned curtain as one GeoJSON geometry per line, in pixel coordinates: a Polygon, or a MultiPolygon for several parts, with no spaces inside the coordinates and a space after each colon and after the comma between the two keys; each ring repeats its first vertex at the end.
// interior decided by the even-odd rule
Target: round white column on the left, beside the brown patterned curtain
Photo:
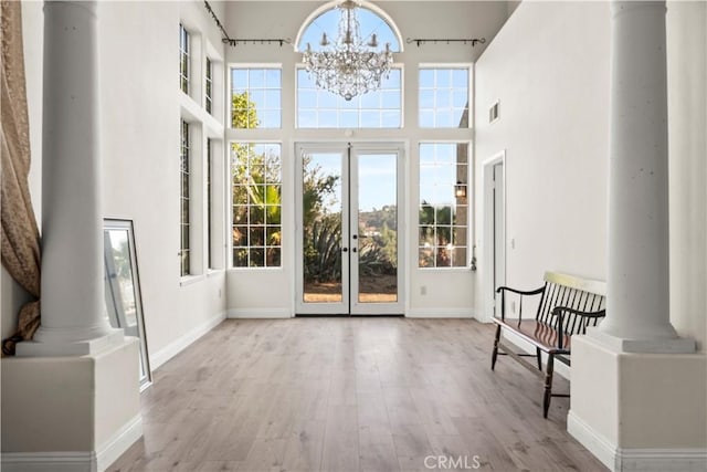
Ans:
{"type": "Polygon", "coordinates": [[[42,325],[18,355],[92,354],[105,316],[95,1],[44,4],[42,325]]]}

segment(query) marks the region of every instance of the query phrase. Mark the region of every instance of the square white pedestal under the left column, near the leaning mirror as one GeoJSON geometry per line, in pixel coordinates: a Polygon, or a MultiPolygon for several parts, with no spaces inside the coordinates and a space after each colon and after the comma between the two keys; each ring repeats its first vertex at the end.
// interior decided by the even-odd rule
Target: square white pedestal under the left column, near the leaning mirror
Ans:
{"type": "Polygon", "coordinates": [[[138,339],[2,359],[2,470],[103,471],[143,436],[138,339]]]}

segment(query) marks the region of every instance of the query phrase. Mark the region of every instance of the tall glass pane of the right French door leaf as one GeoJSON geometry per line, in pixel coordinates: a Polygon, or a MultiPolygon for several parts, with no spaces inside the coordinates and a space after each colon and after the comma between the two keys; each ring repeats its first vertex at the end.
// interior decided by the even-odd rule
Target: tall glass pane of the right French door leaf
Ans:
{"type": "Polygon", "coordinates": [[[398,301],[397,155],[358,157],[358,301],[398,301]]]}

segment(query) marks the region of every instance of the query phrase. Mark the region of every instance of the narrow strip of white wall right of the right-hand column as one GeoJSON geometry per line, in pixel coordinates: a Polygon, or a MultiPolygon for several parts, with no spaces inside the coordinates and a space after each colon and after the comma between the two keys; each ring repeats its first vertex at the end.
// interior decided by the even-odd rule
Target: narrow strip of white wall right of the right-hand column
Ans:
{"type": "Polygon", "coordinates": [[[707,3],[668,2],[671,322],[707,339],[707,3]]]}

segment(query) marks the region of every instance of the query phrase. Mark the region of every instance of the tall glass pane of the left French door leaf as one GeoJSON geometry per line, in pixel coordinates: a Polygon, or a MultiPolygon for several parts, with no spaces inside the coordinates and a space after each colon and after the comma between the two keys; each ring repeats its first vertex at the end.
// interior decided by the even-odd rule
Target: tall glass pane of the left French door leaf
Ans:
{"type": "Polygon", "coordinates": [[[341,155],[303,156],[303,271],[305,303],[340,303],[341,155]]]}

